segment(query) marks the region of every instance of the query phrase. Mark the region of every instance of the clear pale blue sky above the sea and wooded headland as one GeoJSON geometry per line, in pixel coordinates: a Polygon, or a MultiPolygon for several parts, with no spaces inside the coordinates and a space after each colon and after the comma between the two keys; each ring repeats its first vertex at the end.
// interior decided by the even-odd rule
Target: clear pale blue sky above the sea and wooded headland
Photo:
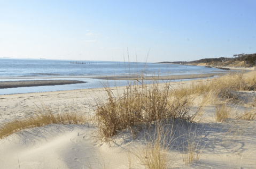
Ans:
{"type": "Polygon", "coordinates": [[[174,62],[256,53],[256,1],[0,1],[0,57],[174,62]]]}

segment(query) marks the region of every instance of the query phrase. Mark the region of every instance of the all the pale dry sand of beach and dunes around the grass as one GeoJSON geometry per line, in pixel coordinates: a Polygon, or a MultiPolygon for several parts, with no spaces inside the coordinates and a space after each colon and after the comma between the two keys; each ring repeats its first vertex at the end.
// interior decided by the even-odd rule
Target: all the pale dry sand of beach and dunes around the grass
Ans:
{"type": "MultiPolygon", "coordinates": [[[[195,78],[194,75],[191,76],[195,78]]],[[[198,76],[201,78],[201,75],[198,76]]],[[[209,74],[204,77],[208,76],[209,74]]],[[[125,80],[125,77],[121,79],[125,80]]],[[[192,80],[172,82],[169,85],[177,89],[191,83],[192,80]]],[[[126,87],[114,87],[111,91],[118,96],[125,89],[126,87]]],[[[248,98],[246,105],[256,95],[254,91],[239,91],[239,96],[248,98]]],[[[93,108],[97,106],[97,98],[106,99],[104,88],[0,95],[0,125],[33,115],[42,108],[42,103],[56,110],[56,113],[76,112],[91,116],[94,115],[93,108]]],[[[199,105],[201,99],[198,96],[194,101],[199,105]]],[[[245,105],[236,106],[232,113],[244,112],[250,108],[245,105]]],[[[255,121],[228,119],[226,122],[216,122],[214,112],[215,105],[208,104],[198,123],[191,124],[191,131],[197,134],[193,139],[200,147],[199,160],[186,164],[183,150],[177,150],[175,146],[178,141],[174,141],[173,151],[169,151],[172,168],[255,168],[255,121]],[[229,136],[227,133],[230,130],[234,130],[234,133],[231,131],[229,136]],[[243,132],[239,132],[242,130],[243,132]],[[236,132],[239,134],[235,134],[236,132]]],[[[175,122],[175,126],[173,137],[174,140],[179,140],[179,133],[184,132],[180,129],[187,124],[183,126],[175,122]]],[[[136,150],[143,148],[143,130],[136,138],[129,130],[122,130],[112,140],[110,144],[99,141],[97,127],[93,124],[50,124],[25,129],[0,140],[0,168],[145,168],[134,155],[136,150]]]]}

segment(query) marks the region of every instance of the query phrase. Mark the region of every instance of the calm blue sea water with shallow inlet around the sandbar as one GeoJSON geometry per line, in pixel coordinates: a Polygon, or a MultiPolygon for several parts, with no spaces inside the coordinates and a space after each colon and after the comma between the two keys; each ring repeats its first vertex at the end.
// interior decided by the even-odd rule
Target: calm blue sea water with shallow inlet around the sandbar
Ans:
{"type": "MultiPolygon", "coordinates": [[[[74,85],[56,85],[41,87],[22,87],[0,89],[0,95],[20,94],[28,92],[44,92],[59,90],[75,90],[102,88],[108,82],[110,87],[126,86],[127,81],[99,80],[90,77],[105,77],[106,75],[177,75],[212,73],[216,70],[204,66],[189,66],[160,63],[135,62],[105,62],[105,61],[72,61],[44,59],[14,59],[0,58],[0,82],[19,80],[81,80],[87,83],[74,85]]],[[[222,71],[223,72],[223,71],[222,71]]],[[[145,81],[146,82],[146,81],[145,81]]],[[[147,83],[147,82],[146,82],[147,83]]]]}

